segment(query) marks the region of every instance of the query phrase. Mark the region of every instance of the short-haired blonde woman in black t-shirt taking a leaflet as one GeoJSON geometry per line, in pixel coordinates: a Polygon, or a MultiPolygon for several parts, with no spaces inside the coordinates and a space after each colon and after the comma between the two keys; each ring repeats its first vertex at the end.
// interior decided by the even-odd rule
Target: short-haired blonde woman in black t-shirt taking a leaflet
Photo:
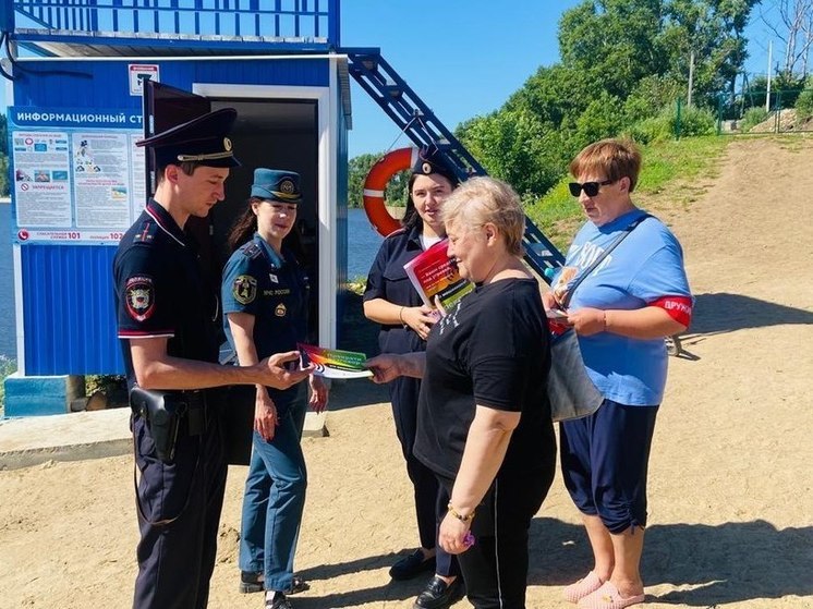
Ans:
{"type": "Polygon", "coordinates": [[[527,529],[554,478],[547,320],[522,263],[513,190],[473,178],[444,205],[449,256],[476,284],[425,353],[368,362],[377,382],[422,378],[415,456],[450,492],[438,541],[459,555],[477,608],[524,608],[527,529]]]}

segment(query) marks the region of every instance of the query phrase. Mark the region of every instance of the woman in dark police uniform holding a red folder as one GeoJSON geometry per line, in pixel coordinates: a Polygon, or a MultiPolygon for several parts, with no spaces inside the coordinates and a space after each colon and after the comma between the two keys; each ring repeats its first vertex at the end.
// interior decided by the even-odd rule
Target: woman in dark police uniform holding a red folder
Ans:
{"type": "MultiPolygon", "coordinates": [[[[364,315],[381,325],[381,353],[413,353],[426,350],[426,337],[436,321],[413,288],[403,265],[446,236],[440,218],[444,200],[458,179],[436,148],[422,148],[409,180],[403,228],[384,240],[367,276],[364,315]]],[[[435,571],[435,576],[415,600],[418,609],[448,607],[462,596],[454,557],[437,546],[438,515],[446,513],[448,497],[437,478],[412,452],[417,425],[421,380],[398,378],[390,383],[396,433],[406,460],[406,472],[415,491],[415,511],[421,547],[390,569],[393,580],[410,580],[435,571]]]]}

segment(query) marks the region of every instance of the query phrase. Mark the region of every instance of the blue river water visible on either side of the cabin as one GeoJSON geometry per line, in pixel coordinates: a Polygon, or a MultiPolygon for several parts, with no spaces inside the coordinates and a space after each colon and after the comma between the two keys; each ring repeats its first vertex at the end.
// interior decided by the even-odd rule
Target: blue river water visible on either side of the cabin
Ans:
{"type": "MultiPolygon", "coordinates": [[[[364,210],[348,210],[348,278],[366,277],[381,244],[364,210]]],[[[11,205],[0,203],[0,355],[16,357],[11,205]]]]}

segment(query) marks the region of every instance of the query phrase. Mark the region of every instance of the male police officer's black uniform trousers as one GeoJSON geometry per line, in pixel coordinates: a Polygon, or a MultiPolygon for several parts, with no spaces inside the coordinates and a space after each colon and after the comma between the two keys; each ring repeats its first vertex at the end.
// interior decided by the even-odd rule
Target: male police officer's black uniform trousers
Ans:
{"type": "Polygon", "coordinates": [[[203,435],[179,438],[174,463],[167,465],[155,456],[143,419],[134,417],[143,512],[134,609],[204,609],[208,601],[227,472],[220,427],[209,418],[203,435]]]}

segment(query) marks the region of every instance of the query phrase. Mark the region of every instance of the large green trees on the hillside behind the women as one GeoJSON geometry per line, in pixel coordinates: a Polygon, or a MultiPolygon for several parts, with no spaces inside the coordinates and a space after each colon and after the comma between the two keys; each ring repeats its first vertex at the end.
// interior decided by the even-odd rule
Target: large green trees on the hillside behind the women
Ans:
{"type": "MultiPolygon", "coordinates": [[[[495,175],[544,194],[592,141],[674,135],[675,100],[714,108],[745,60],[743,31],[759,0],[584,0],[559,22],[561,62],[541,68],[505,106],[458,137],[495,175]],[[636,126],[639,125],[639,126],[636,126]]],[[[697,112],[696,130],[706,129],[697,112]]]]}

